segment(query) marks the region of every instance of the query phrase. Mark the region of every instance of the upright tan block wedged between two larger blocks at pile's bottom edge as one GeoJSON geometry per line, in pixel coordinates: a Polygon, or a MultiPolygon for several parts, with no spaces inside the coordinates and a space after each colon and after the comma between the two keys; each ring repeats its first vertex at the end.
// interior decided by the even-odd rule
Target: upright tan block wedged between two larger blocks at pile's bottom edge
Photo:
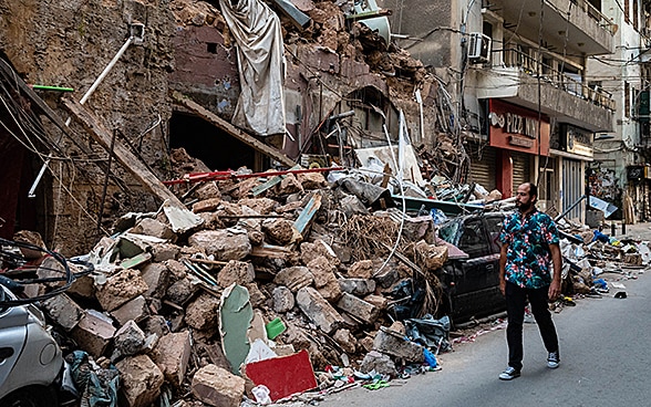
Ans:
{"type": "Polygon", "coordinates": [[[190,333],[184,331],[161,337],[154,349],[153,361],[165,379],[178,388],[187,372],[189,356],[190,333]]]}

